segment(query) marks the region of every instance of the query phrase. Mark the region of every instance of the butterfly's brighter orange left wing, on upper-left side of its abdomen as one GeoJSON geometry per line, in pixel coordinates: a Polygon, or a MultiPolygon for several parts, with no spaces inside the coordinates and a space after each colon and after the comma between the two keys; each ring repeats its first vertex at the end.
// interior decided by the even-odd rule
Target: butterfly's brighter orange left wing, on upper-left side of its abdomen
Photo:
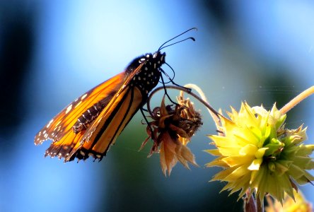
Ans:
{"type": "Polygon", "coordinates": [[[72,129],[77,119],[96,102],[104,98],[110,102],[115,93],[123,86],[126,77],[125,72],[119,73],[71,102],[36,134],[35,145],[50,139],[53,143],[46,151],[46,156],[58,155],[61,158],[68,154],[71,146],[75,146],[83,136],[83,131],[75,134],[72,129]]]}

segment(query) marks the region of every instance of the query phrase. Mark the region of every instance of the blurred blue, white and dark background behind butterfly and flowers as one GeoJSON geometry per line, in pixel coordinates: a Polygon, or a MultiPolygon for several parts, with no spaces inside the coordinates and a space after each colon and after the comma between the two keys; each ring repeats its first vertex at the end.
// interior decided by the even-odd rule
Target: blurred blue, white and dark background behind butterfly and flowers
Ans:
{"type": "MultiPolygon", "coordinates": [[[[164,49],[177,83],[197,83],[217,109],[282,107],[313,86],[313,25],[313,1],[1,1],[0,211],[239,211],[236,194],[208,182],[219,170],[204,167],[215,129],[197,103],[204,125],[189,147],[200,167],[178,164],[170,177],[158,155],[146,158],[149,146],[138,152],[140,113],[101,163],[44,158],[50,141],[33,138],[86,90],[192,27],[196,42],[164,49]]],[[[312,143],[313,107],[308,98],[287,119],[305,123],[312,143]]],[[[301,189],[314,202],[313,186],[301,189]]]]}

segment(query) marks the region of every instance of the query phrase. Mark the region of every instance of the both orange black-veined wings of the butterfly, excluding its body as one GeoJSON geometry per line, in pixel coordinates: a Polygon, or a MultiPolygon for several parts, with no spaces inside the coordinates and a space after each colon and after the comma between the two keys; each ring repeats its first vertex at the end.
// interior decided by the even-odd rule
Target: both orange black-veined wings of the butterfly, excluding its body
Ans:
{"type": "Polygon", "coordinates": [[[141,91],[136,87],[132,87],[132,89],[128,87],[141,66],[143,64],[140,64],[132,73],[124,71],[110,78],[65,107],[37,133],[35,144],[41,144],[43,141],[51,139],[53,142],[45,156],[65,158],[65,162],[74,160],[74,158],[85,160],[89,155],[93,155],[94,158],[103,158],[112,141],[117,138],[141,106],[141,91]],[[91,123],[88,129],[75,134],[72,127],[81,114],[104,98],[107,98],[107,104],[97,119],[91,123]],[[108,117],[112,122],[104,122],[104,120],[108,120],[108,117]],[[95,136],[91,138],[94,131],[99,133],[101,129],[103,131],[103,127],[106,129],[107,137],[112,138],[110,141],[103,138],[95,140],[95,136]],[[112,132],[115,132],[113,137],[112,132]],[[86,145],[83,146],[83,143],[86,145]],[[98,148],[99,145],[102,148],[98,148]]]}

